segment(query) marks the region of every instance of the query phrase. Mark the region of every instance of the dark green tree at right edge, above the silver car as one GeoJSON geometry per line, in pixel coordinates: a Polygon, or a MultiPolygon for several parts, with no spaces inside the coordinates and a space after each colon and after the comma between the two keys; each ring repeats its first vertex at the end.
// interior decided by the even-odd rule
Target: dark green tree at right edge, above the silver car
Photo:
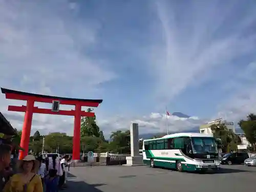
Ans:
{"type": "Polygon", "coordinates": [[[256,115],[249,114],[246,120],[240,120],[238,125],[244,131],[247,141],[253,147],[253,151],[256,151],[256,115]]]}

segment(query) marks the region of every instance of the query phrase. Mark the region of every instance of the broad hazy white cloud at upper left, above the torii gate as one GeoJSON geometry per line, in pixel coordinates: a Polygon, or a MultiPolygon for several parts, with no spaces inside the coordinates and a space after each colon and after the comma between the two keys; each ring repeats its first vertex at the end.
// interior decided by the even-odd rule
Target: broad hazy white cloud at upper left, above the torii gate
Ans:
{"type": "Polygon", "coordinates": [[[59,0],[0,2],[2,86],[13,87],[10,81],[15,81],[16,87],[23,84],[27,91],[51,87],[59,92],[60,84],[71,91],[92,91],[115,78],[104,68],[104,60],[84,54],[97,42],[100,26],[94,20],[80,21],[74,5],[59,0]]]}

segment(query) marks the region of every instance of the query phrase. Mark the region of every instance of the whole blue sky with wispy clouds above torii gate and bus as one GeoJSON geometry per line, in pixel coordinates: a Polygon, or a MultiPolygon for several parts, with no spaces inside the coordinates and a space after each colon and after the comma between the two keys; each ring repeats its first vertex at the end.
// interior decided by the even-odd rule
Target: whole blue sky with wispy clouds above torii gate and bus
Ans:
{"type": "MultiPolygon", "coordinates": [[[[256,3],[242,1],[0,0],[1,87],[103,99],[105,134],[140,124],[181,132],[255,111],[256,3]]],[[[0,109],[22,129],[22,113],[0,109]]],[[[38,103],[38,106],[50,107],[38,103]]],[[[63,106],[71,109],[70,106],[63,106]]],[[[72,135],[73,119],[33,116],[32,132],[72,135]]]]}

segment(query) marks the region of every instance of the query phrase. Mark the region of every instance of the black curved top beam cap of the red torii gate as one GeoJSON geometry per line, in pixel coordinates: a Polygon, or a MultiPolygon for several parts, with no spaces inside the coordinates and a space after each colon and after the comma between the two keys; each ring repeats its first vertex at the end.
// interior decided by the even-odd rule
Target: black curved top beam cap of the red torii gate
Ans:
{"type": "Polygon", "coordinates": [[[15,90],[10,90],[5,88],[1,88],[1,91],[3,94],[10,93],[10,94],[38,97],[38,98],[50,98],[50,99],[56,99],[56,100],[83,101],[83,102],[94,102],[94,103],[102,102],[102,99],[76,99],[76,98],[67,98],[67,97],[56,97],[56,96],[50,96],[50,95],[40,95],[40,94],[27,93],[22,91],[15,91],[15,90]]]}

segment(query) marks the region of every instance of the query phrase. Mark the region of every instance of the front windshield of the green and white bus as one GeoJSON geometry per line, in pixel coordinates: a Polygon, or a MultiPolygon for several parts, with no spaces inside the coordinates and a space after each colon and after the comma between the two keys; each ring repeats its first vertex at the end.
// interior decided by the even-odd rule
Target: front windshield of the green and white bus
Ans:
{"type": "Polygon", "coordinates": [[[194,153],[218,153],[217,142],[213,137],[191,137],[194,153]]]}

